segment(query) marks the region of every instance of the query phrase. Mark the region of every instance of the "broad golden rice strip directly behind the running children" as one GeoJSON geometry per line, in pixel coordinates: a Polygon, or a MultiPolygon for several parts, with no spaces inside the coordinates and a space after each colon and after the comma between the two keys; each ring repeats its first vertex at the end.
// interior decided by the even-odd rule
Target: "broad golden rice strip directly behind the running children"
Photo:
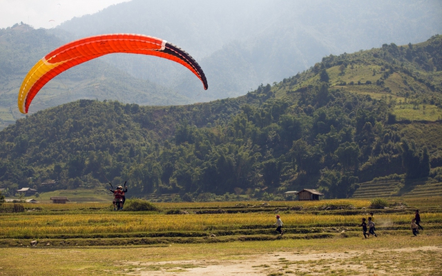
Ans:
{"type": "MultiPolygon", "coordinates": [[[[365,216],[366,217],[366,216],[365,216]]],[[[442,223],[441,213],[423,214],[426,223],[442,223]]],[[[287,228],[320,226],[355,226],[361,215],[312,215],[288,213],[281,218],[287,228]]],[[[376,215],[379,226],[408,224],[410,214],[376,215]]],[[[84,215],[4,215],[0,237],[41,237],[53,234],[158,233],[164,231],[236,230],[253,226],[271,226],[274,216],[268,213],[209,215],[138,215],[127,213],[84,215]]]]}

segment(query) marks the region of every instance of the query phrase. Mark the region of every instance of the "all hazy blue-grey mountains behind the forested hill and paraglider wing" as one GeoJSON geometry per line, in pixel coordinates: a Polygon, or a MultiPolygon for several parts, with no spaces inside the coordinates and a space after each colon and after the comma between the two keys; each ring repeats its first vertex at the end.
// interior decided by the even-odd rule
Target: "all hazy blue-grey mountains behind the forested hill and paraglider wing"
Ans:
{"type": "MultiPolygon", "coordinates": [[[[198,79],[179,65],[157,59],[112,55],[101,58],[102,62],[84,66],[88,68],[85,70],[90,68],[90,72],[94,66],[95,71],[108,66],[106,70],[115,72],[108,80],[117,79],[117,72],[120,72],[119,82],[138,83],[135,88],[127,86],[125,93],[115,89],[108,95],[97,95],[97,99],[130,99],[129,103],[151,105],[185,104],[245,95],[260,83],[278,82],[307,70],[325,56],[377,48],[382,43],[405,45],[423,41],[441,33],[441,13],[442,5],[437,1],[403,1],[398,4],[396,1],[209,3],[191,0],[164,4],[133,0],[121,3],[96,14],[66,21],[57,28],[28,30],[21,40],[9,45],[0,44],[0,94],[3,99],[8,97],[7,101],[0,101],[0,128],[23,117],[13,101],[26,69],[53,48],[73,39],[131,32],[160,37],[182,47],[202,66],[211,83],[208,91],[203,91],[198,79]],[[35,37],[37,34],[41,35],[40,39],[35,37]],[[3,46],[8,46],[9,50],[5,51],[3,46]],[[39,51],[39,55],[35,51],[39,51]],[[147,95],[155,95],[151,101],[147,96],[146,101],[137,101],[142,85],[150,90],[147,95]],[[134,95],[128,97],[131,90],[134,95]],[[168,103],[167,99],[173,101],[168,103]]],[[[25,27],[17,24],[13,28],[25,27]]],[[[8,29],[12,28],[0,31],[12,35],[8,29]]],[[[96,91],[91,83],[97,83],[97,80],[88,75],[79,79],[80,74],[76,73],[71,79],[70,72],[66,72],[66,79],[53,80],[50,97],[44,99],[41,97],[44,93],[39,95],[41,105],[36,105],[35,110],[93,98],[96,91]],[[69,83],[68,88],[66,83],[69,83]],[[77,88],[83,89],[82,94],[68,92],[77,88]]],[[[106,85],[106,79],[99,78],[98,82],[106,89],[113,89],[112,83],[106,85]]]]}

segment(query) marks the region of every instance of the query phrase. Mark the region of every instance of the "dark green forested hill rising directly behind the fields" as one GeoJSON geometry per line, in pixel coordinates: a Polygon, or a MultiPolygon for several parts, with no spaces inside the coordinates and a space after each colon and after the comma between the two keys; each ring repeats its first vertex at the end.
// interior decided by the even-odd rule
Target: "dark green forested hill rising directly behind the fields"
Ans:
{"type": "Polygon", "coordinates": [[[131,195],[349,197],[372,179],[442,180],[442,37],[324,57],[236,99],[79,100],[0,132],[0,187],[127,180],[131,195]],[[54,181],[52,181],[54,180],[54,181]]]}

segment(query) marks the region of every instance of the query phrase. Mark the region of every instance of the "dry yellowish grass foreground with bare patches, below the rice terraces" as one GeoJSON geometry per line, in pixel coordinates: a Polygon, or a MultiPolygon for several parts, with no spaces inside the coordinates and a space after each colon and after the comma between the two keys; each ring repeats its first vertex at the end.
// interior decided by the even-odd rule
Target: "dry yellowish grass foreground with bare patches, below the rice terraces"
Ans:
{"type": "Polygon", "coordinates": [[[2,248],[0,275],[441,275],[442,236],[2,248]]]}

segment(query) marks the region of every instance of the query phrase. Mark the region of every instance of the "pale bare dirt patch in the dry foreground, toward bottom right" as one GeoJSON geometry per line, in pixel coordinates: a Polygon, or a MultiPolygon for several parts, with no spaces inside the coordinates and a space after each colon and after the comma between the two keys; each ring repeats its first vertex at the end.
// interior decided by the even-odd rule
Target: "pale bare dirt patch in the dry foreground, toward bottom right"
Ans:
{"type": "Polygon", "coordinates": [[[442,247],[283,252],[225,260],[208,256],[200,261],[134,262],[132,265],[134,269],[127,275],[442,275],[442,247]]]}

